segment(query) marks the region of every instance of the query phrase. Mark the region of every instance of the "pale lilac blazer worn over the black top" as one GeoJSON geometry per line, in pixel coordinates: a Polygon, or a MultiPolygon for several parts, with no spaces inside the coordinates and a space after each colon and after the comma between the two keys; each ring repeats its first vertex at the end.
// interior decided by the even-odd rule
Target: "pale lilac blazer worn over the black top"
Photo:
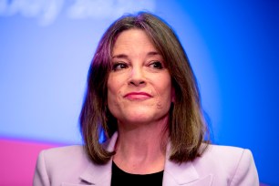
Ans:
{"type": "MultiPolygon", "coordinates": [[[[117,138],[117,134],[111,138],[108,150],[114,150],[117,138]]],[[[110,186],[111,166],[112,160],[105,165],[92,163],[82,146],[43,150],[36,163],[34,186],[110,186]]],[[[167,159],[162,185],[257,186],[259,179],[250,150],[210,145],[191,162],[179,165],[167,159]]]]}

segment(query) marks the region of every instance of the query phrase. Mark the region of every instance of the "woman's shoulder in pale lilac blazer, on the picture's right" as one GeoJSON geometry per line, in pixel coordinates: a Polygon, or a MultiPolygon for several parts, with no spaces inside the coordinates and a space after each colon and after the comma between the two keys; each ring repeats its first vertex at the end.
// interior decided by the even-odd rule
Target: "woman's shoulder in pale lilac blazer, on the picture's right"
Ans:
{"type": "Polygon", "coordinates": [[[209,145],[193,164],[201,174],[212,172],[216,180],[226,178],[230,185],[257,185],[258,174],[251,150],[209,145]]]}

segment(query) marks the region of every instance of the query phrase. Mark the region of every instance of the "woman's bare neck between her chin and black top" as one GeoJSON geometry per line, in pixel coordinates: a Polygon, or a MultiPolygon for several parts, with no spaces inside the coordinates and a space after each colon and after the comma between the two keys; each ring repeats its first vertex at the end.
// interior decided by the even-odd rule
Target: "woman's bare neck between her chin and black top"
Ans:
{"type": "Polygon", "coordinates": [[[125,128],[119,123],[119,139],[114,162],[123,171],[148,174],[162,171],[168,132],[167,122],[125,128]]]}

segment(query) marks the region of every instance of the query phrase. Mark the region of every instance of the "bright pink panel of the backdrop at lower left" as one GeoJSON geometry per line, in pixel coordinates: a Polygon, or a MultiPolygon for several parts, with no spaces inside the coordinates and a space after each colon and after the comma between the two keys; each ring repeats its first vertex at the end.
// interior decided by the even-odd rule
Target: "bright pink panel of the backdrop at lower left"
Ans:
{"type": "Polygon", "coordinates": [[[32,185],[36,158],[55,144],[0,139],[0,185],[32,185]]]}

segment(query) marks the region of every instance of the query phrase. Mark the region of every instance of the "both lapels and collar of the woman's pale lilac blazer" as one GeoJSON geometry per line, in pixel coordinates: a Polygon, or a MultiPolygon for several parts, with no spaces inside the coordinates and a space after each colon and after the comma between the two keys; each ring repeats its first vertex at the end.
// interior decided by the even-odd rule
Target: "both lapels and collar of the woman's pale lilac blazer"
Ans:
{"type": "MultiPolygon", "coordinates": [[[[115,132],[109,144],[107,150],[113,151],[116,141],[118,139],[118,133],[115,132]]],[[[167,147],[167,157],[170,157],[171,144],[167,147]]],[[[82,173],[80,179],[88,182],[89,184],[97,186],[110,186],[111,180],[111,166],[112,160],[105,165],[97,165],[88,163],[88,168],[82,173]]],[[[200,178],[196,171],[193,162],[177,164],[169,160],[165,161],[164,175],[163,175],[163,186],[172,185],[192,185],[192,186],[210,186],[212,184],[212,174],[206,177],[200,178]]]]}

